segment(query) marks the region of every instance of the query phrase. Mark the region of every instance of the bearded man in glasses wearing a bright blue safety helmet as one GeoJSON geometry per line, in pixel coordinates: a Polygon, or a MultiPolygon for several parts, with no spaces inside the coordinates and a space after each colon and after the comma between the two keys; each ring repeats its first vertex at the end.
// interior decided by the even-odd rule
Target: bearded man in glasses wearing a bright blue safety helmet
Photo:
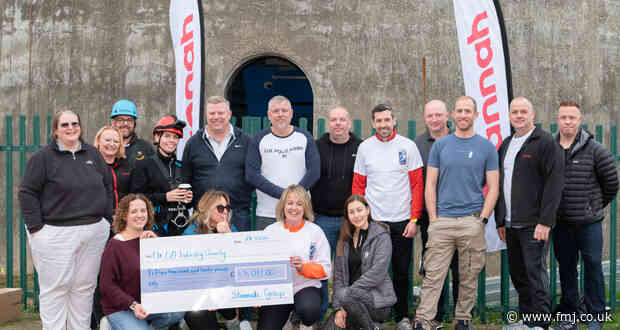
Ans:
{"type": "Polygon", "coordinates": [[[123,134],[125,155],[129,160],[129,168],[135,168],[136,159],[142,160],[154,154],[153,147],[145,140],[138,138],[135,132],[138,112],[136,105],[129,100],[114,103],[110,113],[110,124],[123,134]]]}

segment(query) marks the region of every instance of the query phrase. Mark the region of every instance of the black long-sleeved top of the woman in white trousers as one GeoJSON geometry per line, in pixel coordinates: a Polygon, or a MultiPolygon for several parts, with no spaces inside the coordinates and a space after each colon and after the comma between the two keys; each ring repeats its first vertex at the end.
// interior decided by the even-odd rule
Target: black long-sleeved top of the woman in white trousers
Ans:
{"type": "Polygon", "coordinates": [[[56,141],[28,160],[19,188],[24,223],[33,233],[45,224],[75,226],[112,221],[110,170],[95,147],[61,151],[56,141]]]}

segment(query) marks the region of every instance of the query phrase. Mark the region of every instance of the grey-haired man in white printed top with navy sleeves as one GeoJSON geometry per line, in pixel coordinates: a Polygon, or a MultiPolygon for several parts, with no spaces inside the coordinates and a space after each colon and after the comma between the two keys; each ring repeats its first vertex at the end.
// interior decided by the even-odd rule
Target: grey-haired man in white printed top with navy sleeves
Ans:
{"type": "Polygon", "coordinates": [[[252,138],[245,161],[246,180],[256,187],[256,230],[276,221],[276,204],[286,187],[299,184],[309,190],[321,175],[314,138],[291,125],[291,101],[274,96],[267,109],[271,127],[252,138]]]}

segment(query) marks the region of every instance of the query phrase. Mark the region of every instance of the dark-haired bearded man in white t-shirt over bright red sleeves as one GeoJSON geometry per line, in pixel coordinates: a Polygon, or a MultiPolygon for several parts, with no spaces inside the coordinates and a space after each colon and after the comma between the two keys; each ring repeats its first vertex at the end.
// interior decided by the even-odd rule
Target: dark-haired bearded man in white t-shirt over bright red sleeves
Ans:
{"type": "Polygon", "coordinates": [[[374,220],[390,227],[397,328],[411,329],[409,265],[424,204],[422,157],[413,141],[396,134],[395,124],[389,105],[379,104],[372,110],[376,133],[357,149],[352,191],[366,197],[374,220]]]}

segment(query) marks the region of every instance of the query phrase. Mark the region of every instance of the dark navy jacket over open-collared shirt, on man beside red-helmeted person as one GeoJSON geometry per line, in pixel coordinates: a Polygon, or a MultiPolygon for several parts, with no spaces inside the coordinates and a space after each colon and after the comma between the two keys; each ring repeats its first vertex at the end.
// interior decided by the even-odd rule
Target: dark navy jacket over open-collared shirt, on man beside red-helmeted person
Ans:
{"type": "Polygon", "coordinates": [[[230,197],[233,209],[250,208],[253,187],[245,180],[245,156],[250,137],[234,127],[221,160],[204,136],[204,128],[194,134],[183,149],[183,177],[192,185],[195,206],[209,190],[221,190],[230,197]]]}

